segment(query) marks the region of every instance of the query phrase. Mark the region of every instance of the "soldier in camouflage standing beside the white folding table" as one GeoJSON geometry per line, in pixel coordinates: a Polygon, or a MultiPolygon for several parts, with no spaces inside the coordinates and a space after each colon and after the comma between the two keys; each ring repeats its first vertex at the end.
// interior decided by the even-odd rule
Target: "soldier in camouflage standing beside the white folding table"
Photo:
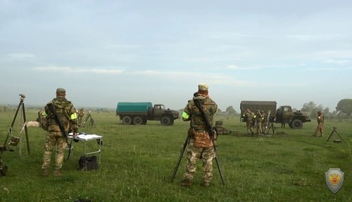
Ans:
{"type": "MultiPolygon", "coordinates": [[[[66,131],[73,132],[73,136],[77,135],[78,124],[77,124],[77,114],[76,109],[73,107],[72,102],[66,100],[66,90],[63,88],[56,89],[56,98],[51,100],[49,103],[53,103],[58,114],[59,119],[63,123],[66,131]]],[[[48,103],[48,104],[49,104],[48,103]]],[[[44,116],[48,122],[48,133],[46,134],[45,144],[44,144],[44,155],[43,155],[43,164],[42,164],[42,175],[46,176],[49,173],[49,166],[51,161],[51,153],[53,152],[54,147],[56,147],[56,164],[54,168],[54,176],[61,176],[61,167],[63,164],[63,158],[65,149],[68,144],[65,141],[65,137],[61,133],[61,130],[56,123],[54,113],[49,109],[48,104],[44,108],[44,116]]]]}

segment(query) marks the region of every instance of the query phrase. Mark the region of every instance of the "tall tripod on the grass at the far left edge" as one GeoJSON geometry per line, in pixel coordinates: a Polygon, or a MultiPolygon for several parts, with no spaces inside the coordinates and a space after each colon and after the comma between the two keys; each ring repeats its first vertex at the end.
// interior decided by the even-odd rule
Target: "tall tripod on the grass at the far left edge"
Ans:
{"type": "MultiPolygon", "coordinates": [[[[30,154],[30,142],[28,141],[28,130],[27,130],[26,119],[25,119],[25,103],[23,102],[24,100],[25,100],[25,95],[20,94],[20,104],[18,104],[18,107],[15,112],[15,116],[13,117],[13,121],[11,123],[11,126],[10,126],[10,128],[8,128],[6,140],[3,144],[4,149],[1,149],[1,154],[2,154],[2,152],[4,152],[6,150],[6,144],[8,142],[8,138],[10,137],[10,135],[11,135],[11,141],[8,143],[10,145],[16,146],[18,144],[18,141],[21,140],[20,137],[13,136],[13,125],[15,124],[15,120],[18,115],[18,112],[21,113],[22,129],[20,130],[20,134],[23,133],[23,130],[25,131],[25,138],[26,138],[26,142],[27,142],[27,152],[28,152],[28,154],[30,154]]],[[[20,141],[20,142],[22,142],[22,141],[20,141]]],[[[20,156],[21,156],[21,152],[22,152],[22,144],[20,144],[20,156]]]]}

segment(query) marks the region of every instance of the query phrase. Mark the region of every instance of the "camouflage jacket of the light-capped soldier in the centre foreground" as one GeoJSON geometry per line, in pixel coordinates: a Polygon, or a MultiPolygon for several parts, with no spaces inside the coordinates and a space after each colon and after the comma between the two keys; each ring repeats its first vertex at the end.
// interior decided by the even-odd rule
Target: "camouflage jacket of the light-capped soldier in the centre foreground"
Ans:
{"type": "MultiPolygon", "coordinates": [[[[205,112],[210,126],[213,126],[213,116],[218,112],[218,105],[211,100],[209,96],[201,95],[200,93],[194,93],[194,98],[201,101],[203,106],[203,111],[205,112]]],[[[182,114],[182,119],[184,121],[191,121],[191,128],[194,130],[206,130],[206,122],[204,121],[201,111],[194,103],[194,100],[189,100],[187,106],[184,107],[184,112],[182,114]]]]}

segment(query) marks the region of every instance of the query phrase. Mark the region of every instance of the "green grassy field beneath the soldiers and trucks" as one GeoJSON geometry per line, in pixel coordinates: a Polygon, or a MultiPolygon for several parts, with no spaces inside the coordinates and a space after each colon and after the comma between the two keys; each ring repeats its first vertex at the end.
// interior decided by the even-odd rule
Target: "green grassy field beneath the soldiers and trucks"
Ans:
{"type": "MultiPolygon", "coordinates": [[[[0,142],[6,138],[13,115],[0,113],[0,142]]],[[[37,111],[29,110],[26,115],[27,121],[34,120],[37,111]]],[[[99,170],[77,170],[83,152],[80,141],[63,165],[63,177],[42,177],[45,131],[28,128],[30,154],[25,135],[21,135],[22,144],[11,147],[14,152],[1,154],[8,173],[0,177],[0,201],[352,201],[351,119],[325,120],[324,137],[313,137],[315,120],[304,123],[301,130],[277,128],[280,133],[271,137],[246,137],[239,116],[216,116],[225,128],[236,131],[218,138],[218,159],[226,184],[221,184],[214,161],[212,185],[201,187],[199,162],[194,182],[186,188],[180,186],[185,156],[173,183],[170,177],[188,122],[176,120],[174,126],[161,126],[149,121],[144,126],[125,126],[113,112],[92,112],[92,118],[96,127],[86,124],[80,132],[103,135],[99,170]],[[338,135],[327,142],[333,127],[346,143],[334,143],[338,135]],[[329,168],[344,172],[344,184],[336,194],[325,181],[329,168]]],[[[87,143],[89,149],[98,147],[95,141],[87,143]]]]}

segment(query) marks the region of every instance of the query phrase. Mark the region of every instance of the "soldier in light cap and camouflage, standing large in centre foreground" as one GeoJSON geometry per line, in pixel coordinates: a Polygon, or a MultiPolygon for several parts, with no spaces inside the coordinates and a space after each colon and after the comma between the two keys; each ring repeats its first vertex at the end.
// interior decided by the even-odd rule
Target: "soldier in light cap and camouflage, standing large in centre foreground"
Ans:
{"type": "MultiPolygon", "coordinates": [[[[213,126],[213,115],[218,112],[218,105],[208,95],[208,85],[201,83],[198,89],[198,92],[194,93],[193,99],[201,101],[203,111],[208,117],[210,125],[213,126]]],[[[197,161],[202,159],[203,186],[208,187],[210,186],[210,180],[213,178],[214,145],[207,131],[206,122],[194,100],[189,100],[182,113],[182,120],[191,122],[188,130],[187,166],[181,185],[186,187],[191,185],[191,180],[196,172],[197,161]]]]}

